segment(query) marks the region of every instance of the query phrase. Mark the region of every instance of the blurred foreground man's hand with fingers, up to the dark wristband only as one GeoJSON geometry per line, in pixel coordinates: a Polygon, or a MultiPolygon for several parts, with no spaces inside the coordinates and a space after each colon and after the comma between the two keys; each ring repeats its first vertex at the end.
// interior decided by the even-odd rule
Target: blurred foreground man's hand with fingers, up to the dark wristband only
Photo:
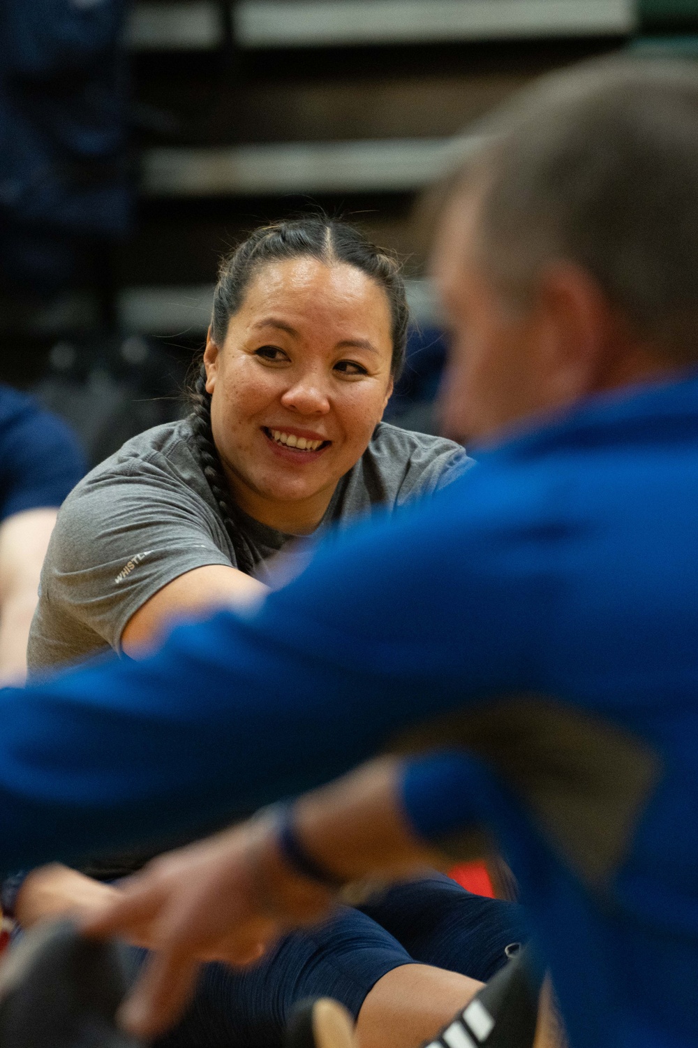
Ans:
{"type": "Polygon", "coordinates": [[[325,889],[289,872],[262,818],[154,859],[83,920],[88,935],[117,935],[155,951],[120,1017],[132,1032],[152,1038],[187,1003],[201,962],[249,964],[290,927],[324,917],[332,901],[325,889]]]}

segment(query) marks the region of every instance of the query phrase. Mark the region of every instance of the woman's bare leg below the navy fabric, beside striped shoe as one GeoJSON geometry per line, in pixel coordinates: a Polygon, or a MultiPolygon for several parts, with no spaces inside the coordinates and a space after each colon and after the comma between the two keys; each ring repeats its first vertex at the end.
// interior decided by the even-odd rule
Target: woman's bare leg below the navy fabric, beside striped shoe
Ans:
{"type": "Polygon", "coordinates": [[[418,1048],[465,1008],[482,985],[428,964],[392,968],[361,1006],[356,1026],[359,1048],[418,1048]]]}

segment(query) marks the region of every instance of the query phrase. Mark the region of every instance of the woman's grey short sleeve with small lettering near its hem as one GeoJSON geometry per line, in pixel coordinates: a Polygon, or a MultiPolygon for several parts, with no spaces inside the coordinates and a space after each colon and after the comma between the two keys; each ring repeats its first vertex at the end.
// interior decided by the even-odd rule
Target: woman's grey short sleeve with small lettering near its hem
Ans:
{"type": "Polygon", "coordinates": [[[163,586],[206,565],[233,567],[226,545],[205,501],[148,462],[137,476],[88,477],[59,514],[35,624],[50,632],[60,618],[65,631],[72,619],[120,651],[127,623],[163,586]]]}

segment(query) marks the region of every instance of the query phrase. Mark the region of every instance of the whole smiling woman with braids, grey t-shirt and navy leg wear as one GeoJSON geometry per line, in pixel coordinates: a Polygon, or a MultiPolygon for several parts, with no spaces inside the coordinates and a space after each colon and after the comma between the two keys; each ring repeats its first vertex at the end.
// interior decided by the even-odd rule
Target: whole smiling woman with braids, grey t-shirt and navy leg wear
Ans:
{"type": "MultiPolygon", "coordinates": [[[[108,648],[138,655],[177,615],[258,598],[278,550],[459,476],[469,459],[458,444],[381,422],[407,320],[398,264],[347,225],[313,217],[241,244],[221,268],[193,413],[130,440],[61,510],[30,671],[108,648]]],[[[140,860],[90,872],[111,879],[140,860]]],[[[48,867],[12,894],[28,925],[114,891],[48,867]]],[[[207,965],[168,1048],[273,1046],[296,1001],[328,994],[358,1017],[361,1048],[425,1040],[504,962],[520,918],[445,877],[395,893],[370,916],[346,910],[289,936],[248,973],[207,965]],[[415,909],[434,918],[428,942],[415,909]]]]}

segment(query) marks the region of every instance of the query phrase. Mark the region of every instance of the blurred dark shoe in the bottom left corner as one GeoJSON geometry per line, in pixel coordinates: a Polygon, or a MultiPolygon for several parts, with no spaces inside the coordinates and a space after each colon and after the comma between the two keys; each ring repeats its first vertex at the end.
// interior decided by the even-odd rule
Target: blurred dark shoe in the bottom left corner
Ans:
{"type": "Polygon", "coordinates": [[[0,962],[0,1048],[137,1048],[114,1018],[128,988],[122,946],[39,924],[0,962]]]}

